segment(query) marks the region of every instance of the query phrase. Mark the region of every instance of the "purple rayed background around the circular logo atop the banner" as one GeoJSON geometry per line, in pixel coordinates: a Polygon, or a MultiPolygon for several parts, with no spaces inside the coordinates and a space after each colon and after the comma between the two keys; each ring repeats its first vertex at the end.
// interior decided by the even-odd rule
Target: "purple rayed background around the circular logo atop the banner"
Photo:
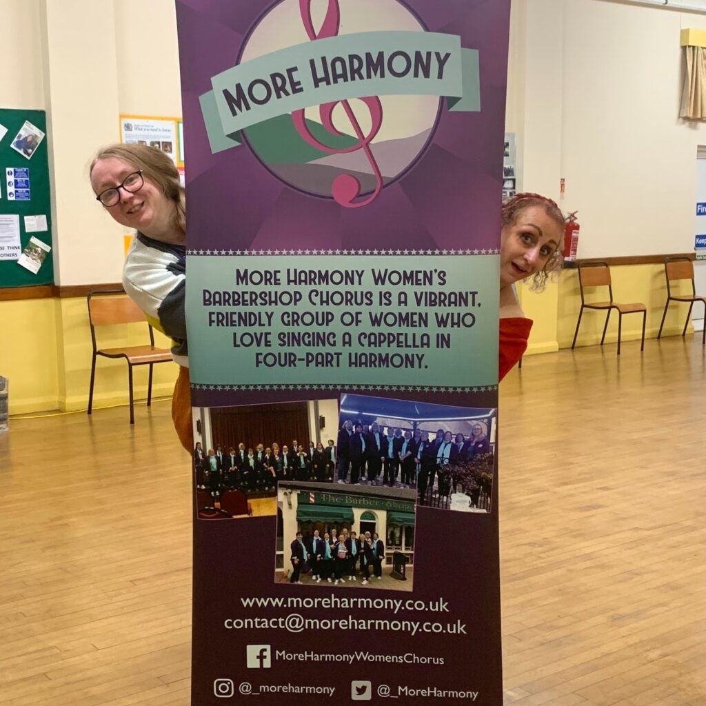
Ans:
{"type": "Polygon", "coordinates": [[[498,249],[507,72],[506,52],[498,47],[507,46],[506,4],[405,4],[430,31],[460,35],[464,47],[479,50],[481,111],[451,113],[444,107],[412,168],[369,206],[347,209],[333,198],[285,186],[246,145],[211,154],[198,97],[211,90],[212,76],[234,65],[262,6],[250,0],[177,2],[179,25],[189,26],[179,53],[186,195],[199,204],[189,211],[192,250],[498,249]]]}

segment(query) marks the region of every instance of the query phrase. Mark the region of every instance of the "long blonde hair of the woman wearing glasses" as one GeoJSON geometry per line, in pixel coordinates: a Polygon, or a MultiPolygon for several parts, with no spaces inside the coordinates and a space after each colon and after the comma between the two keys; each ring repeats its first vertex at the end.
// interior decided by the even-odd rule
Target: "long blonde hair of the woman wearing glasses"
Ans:
{"type": "Polygon", "coordinates": [[[121,145],[116,143],[98,150],[97,155],[90,163],[89,176],[93,167],[107,157],[116,157],[119,160],[132,164],[135,169],[141,169],[143,176],[156,184],[169,201],[174,203],[172,227],[179,235],[186,235],[186,198],[184,186],[179,181],[179,171],[174,166],[172,158],[162,150],[147,145],[121,145]]]}

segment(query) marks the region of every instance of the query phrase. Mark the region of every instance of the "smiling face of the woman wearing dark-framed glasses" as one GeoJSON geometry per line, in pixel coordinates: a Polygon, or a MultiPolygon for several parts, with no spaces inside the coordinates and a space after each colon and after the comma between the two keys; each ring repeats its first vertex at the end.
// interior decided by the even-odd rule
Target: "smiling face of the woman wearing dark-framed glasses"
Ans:
{"type": "MultiPolygon", "coordinates": [[[[98,160],[90,175],[91,186],[96,195],[106,189],[114,189],[123,183],[128,174],[138,171],[134,164],[119,157],[104,157],[98,160]]],[[[135,228],[148,237],[161,240],[169,233],[174,213],[174,203],[164,196],[159,186],[143,174],[142,189],[130,193],[119,189],[120,201],[114,206],[105,206],[113,219],[128,228],[135,228]]]]}

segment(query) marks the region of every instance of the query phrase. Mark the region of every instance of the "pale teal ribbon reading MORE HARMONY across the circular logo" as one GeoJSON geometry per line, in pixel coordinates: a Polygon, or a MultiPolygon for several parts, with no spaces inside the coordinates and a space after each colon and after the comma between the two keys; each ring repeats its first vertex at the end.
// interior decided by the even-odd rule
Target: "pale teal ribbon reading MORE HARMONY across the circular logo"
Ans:
{"type": "Polygon", "coordinates": [[[251,125],[314,105],[372,95],[439,95],[480,110],[479,54],[458,35],[359,32],[296,44],[213,76],[200,97],[211,150],[251,125]]]}

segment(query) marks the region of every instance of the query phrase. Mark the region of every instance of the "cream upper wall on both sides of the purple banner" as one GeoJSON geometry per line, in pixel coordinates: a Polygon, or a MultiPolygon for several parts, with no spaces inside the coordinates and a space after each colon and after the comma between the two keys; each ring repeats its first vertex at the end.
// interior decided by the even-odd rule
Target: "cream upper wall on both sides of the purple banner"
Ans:
{"type": "MultiPolygon", "coordinates": [[[[123,229],[91,203],[85,170],[119,138],[120,112],[181,114],[174,2],[0,0],[0,18],[0,46],[22,67],[0,76],[0,104],[52,111],[57,280],[116,282],[123,229]],[[66,188],[76,179],[84,192],[66,188]]],[[[706,28],[706,16],[513,0],[506,128],[525,189],[558,198],[566,178],[561,205],[580,212],[580,256],[693,248],[706,126],[678,119],[683,27],[706,28]]]]}

